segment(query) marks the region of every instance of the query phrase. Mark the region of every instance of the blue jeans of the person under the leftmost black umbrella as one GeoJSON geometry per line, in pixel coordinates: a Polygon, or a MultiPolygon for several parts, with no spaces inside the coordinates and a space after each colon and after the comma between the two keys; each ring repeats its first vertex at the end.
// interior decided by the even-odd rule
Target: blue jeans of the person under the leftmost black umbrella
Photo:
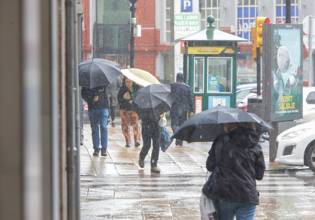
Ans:
{"type": "Polygon", "coordinates": [[[92,129],[93,148],[107,148],[108,132],[107,118],[108,108],[89,109],[89,119],[92,129]],[[99,129],[100,127],[100,129],[99,129]]]}

